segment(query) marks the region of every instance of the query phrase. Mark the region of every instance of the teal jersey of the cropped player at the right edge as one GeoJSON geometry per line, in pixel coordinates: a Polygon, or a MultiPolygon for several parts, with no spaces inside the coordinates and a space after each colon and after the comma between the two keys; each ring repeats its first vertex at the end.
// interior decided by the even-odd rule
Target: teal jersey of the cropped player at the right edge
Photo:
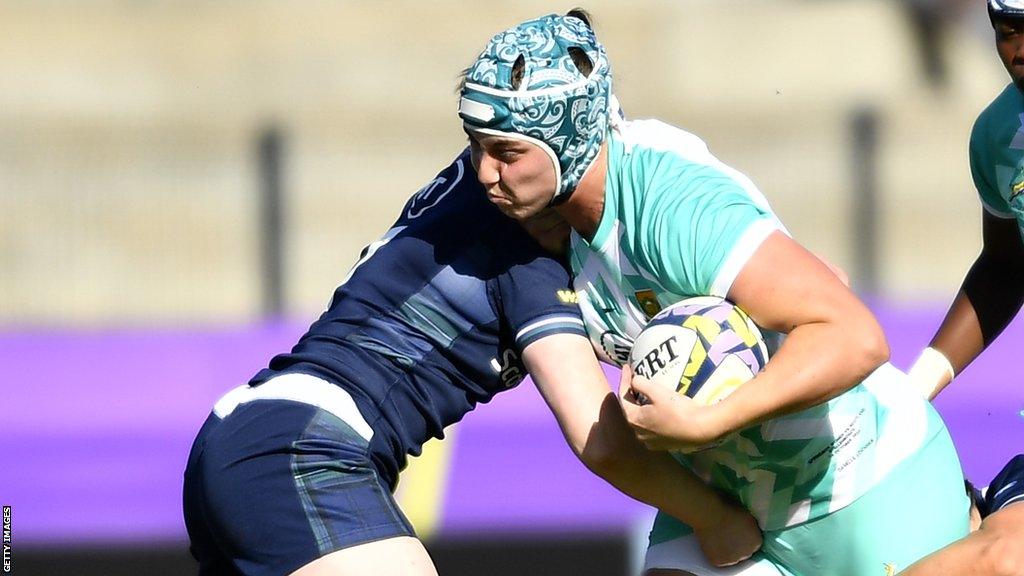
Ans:
{"type": "Polygon", "coordinates": [[[1007,86],[971,131],[971,175],[985,209],[1024,236],[1024,95],[1007,86]]]}

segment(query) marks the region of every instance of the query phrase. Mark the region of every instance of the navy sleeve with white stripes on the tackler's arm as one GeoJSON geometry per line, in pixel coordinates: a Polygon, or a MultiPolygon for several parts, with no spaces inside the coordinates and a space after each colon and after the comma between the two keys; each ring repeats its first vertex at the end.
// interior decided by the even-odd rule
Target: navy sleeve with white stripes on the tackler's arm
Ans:
{"type": "Polygon", "coordinates": [[[542,255],[511,265],[498,277],[497,293],[520,352],[552,334],[587,337],[568,272],[554,258],[542,255]]]}

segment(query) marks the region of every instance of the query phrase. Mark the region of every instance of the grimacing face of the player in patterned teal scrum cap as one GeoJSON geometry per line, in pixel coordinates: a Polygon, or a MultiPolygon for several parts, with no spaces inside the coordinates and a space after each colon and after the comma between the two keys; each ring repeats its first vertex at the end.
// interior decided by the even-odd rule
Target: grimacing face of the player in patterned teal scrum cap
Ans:
{"type": "Polygon", "coordinates": [[[537,215],[555,195],[551,158],[535,143],[487,134],[469,134],[476,176],[490,200],[516,219],[537,215]]]}

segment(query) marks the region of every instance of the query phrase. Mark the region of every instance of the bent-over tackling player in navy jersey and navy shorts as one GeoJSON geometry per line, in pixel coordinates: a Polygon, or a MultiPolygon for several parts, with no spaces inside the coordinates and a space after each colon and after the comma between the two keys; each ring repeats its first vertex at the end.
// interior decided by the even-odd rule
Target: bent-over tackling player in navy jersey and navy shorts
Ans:
{"type": "MultiPolygon", "coordinates": [[[[567,271],[486,201],[468,156],[412,197],[291,353],[217,402],[185,471],[201,574],[435,574],[391,495],[398,472],[527,369],[592,470],[695,523],[713,562],[760,545],[742,508],[632,438],[567,271]]],[[[552,247],[566,232],[527,225],[552,247]]]]}

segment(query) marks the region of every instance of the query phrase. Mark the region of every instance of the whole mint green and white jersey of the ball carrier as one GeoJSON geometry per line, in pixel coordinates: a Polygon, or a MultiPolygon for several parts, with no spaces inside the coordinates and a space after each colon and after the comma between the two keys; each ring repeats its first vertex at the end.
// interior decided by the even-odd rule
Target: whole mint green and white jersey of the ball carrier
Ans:
{"type": "MultiPolygon", "coordinates": [[[[588,334],[605,361],[623,365],[658,310],[689,296],[725,296],[755,250],[784,231],[764,196],[696,136],[656,121],[611,132],[604,211],[591,242],[572,234],[573,287],[588,334]]],[[[905,376],[886,367],[876,380],[905,376]]],[[[901,418],[869,382],[809,410],[740,430],[681,457],[735,495],[765,530],[820,518],[866,492],[899,458],[934,436],[925,402],[901,418]]],[[[885,386],[883,386],[885,387],[885,386]]],[[[910,393],[912,394],[912,392],[910,393]]]]}

